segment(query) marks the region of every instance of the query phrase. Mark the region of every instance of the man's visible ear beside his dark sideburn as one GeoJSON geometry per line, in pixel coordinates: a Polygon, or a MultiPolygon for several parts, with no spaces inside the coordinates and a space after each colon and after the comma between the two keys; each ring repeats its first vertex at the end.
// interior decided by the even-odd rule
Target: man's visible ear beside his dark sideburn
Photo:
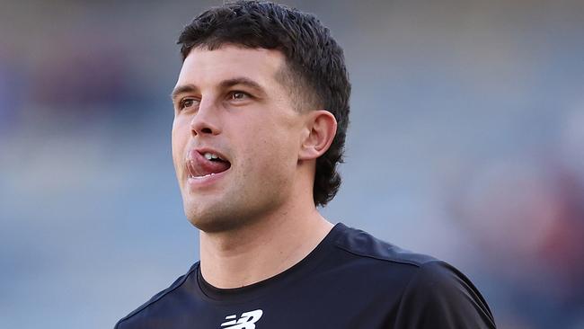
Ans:
{"type": "Polygon", "coordinates": [[[337,120],[330,111],[309,111],[305,120],[305,135],[298,153],[298,160],[312,160],[322,156],[331,147],[337,133],[337,120]]]}

